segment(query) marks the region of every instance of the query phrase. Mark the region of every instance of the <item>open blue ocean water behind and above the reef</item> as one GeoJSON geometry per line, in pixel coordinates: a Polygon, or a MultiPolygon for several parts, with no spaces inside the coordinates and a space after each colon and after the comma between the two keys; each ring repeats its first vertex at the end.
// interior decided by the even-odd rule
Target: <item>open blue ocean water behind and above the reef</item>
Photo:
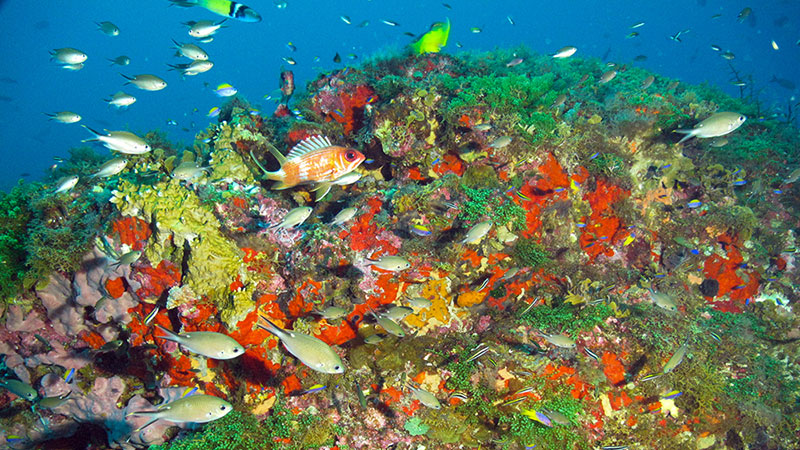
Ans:
{"type": "MultiPolygon", "coordinates": [[[[732,65],[740,74],[752,75],[766,114],[785,112],[787,104],[796,104],[793,86],[800,85],[800,2],[790,0],[759,5],[723,0],[246,3],[263,21],[228,20],[213,42],[200,44],[214,68],[181,79],[167,71],[167,64],[188,62],[174,56],[172,44],[173,39],[193,41],[182,22],[219,16],[201,8],[171,7],[167,0],[53,1],[37,2],[36,7],[22,0],[0,2],[0,190],[7,191],[21,176],[40,179],[54,157],[67,156],[71,147],[91,137],[77,124],[50,121],[43,113],[74,111],[83,117],[80,123],[96,129],[161,129],[171,140],[190,145],[194,134],[215,120],[206,117],[209,109],[224,101],[212,92],[218,84],[234,85],[263,112],[271,112],[279,98],[282,68],[294,71],[302,89],[320,72],[357,65],[381,52],[402,51],[413,40],[404,33],[421,34],[445,17],[452,22],[444,49],[450,53],[519,45],[552,53],[574,45],[579,49],[575,57],[634,64],[687,83],[707,81],[738,95],[739,88],[730,84],[732,65]],[[753,12],[740,22],[737,14],[748,6],[753,12]],[[349,17],[351,24],[341,16],[349,17]],[[102,34],[96,25],[101,21],[116,24],[120,35],[102,34]],[[364,21],[369,24],[357,26],[364,21]],[[630,28],[639,22],[645,24],[630,28]],[[634,31],[639,35],[628,37],[634,31]],[[681,42],[669,39],[678,32],[681,42]],[[711,45],[736,58],[723,59],[711,45]],[[87,53],[85,68],[70,72],[51,62],[48,52],[61,47],[87,53]],[[339,64],[333,61],[336,53],[342,57],[339,64]],[[351,54],[354,59],[348,57],[351,54]],[[119,55],[128,55],[131,64],[110,66],[106,59],[119,55]],[[634,61],[639,55],[646,60],[634,61]],[[297,64],[289,65],[284,60],[289,57],[297,64]],[[155,74],[169,85],[159,92],[140,91],[124,86],[120,73],[155,74]],[[785,81],[771,82],[773,77],[785,81]],[[125,111],[109,108],[103,98],[119,90],[138,101],[125,111]]],[[[98,151],[106,150],[98,146],[98,151]]]]}

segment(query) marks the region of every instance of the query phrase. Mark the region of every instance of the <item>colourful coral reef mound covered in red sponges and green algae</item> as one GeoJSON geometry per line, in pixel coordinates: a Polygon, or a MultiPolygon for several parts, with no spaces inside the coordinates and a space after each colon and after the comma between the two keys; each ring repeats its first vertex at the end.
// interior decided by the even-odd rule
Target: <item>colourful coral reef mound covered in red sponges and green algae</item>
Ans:
{"type": "MultiPolygon", "coordinates": [[[[191,148],[150,133],[118,175],[15,187],[0,376],[71,394],[31,410],[0,392],[0,443],[91,426],[99,447],[165,450],[793,448],[800,136],[765,118],[725,147],[678,143],[757,107],[606,70],[524,48],[379,56],[321,74],[302,114],[236,97],[191,148]],[[270,190],[269,146],[316,134],[364,153],[358,180],[316,203],[270,190]],[[176,176],[189,161],[208,169],[176,176]],[[303,224],[275,226],[298,206],[303,224]],[[260,315],[331,345],[344,373],[304,366],[260,315]],[[245,351],[208,359],[155,325],[245,351]],[[235,410],[127,417],[194,388],[235,410]]],[[[101,163],[76,150],[53,176],[101,163]]]]}

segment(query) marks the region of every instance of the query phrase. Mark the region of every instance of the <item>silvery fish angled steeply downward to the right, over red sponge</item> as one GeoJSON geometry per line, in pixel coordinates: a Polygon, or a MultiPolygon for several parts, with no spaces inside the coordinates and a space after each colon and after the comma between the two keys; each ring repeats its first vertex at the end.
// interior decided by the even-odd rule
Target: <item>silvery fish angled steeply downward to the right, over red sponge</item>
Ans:
{"type": "Polygon", "coordinates": [[[342,359],[322,340],[308,334],[284,330],[263,315],[261,320],[266,325],[259,323],[258,327],[277,336],[286,350],[306,366],[322,373],[344,373],[342,359]]]}

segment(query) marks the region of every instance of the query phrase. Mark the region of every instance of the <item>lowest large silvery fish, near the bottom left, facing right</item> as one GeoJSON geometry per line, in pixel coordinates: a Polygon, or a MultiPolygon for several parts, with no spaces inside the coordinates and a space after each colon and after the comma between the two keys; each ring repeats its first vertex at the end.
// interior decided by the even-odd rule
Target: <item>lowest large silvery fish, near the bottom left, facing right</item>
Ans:
{"type": "Polygon", "coordinates": [[[175,423],[206,423],[221,419],[231,411],[233,411],[233,406],[225,400],[212,395],[198,394],[179,398],[161,405],[156,411],[133,412],[128,414],[128,417],[145,416],[151,418],[149,422],[136,429],[138,432],[160,419],[175,423]]]}

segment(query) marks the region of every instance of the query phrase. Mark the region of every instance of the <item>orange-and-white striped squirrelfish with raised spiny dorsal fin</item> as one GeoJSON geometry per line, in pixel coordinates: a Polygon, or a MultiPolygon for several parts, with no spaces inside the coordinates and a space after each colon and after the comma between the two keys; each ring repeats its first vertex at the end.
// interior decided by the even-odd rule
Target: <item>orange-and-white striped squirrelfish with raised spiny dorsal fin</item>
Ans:
{"type": "Polygon", "coordinates": [[[272,189],[316,183],[317,201],[325,197],[336,180],[355,170],[365,159],[358,150],[333,145],[325,136],[303,139],[286,156],[273,146],[270,152],[281,164],[275,172],[261,168],[267,179],[277,181],[272,189]]]}

